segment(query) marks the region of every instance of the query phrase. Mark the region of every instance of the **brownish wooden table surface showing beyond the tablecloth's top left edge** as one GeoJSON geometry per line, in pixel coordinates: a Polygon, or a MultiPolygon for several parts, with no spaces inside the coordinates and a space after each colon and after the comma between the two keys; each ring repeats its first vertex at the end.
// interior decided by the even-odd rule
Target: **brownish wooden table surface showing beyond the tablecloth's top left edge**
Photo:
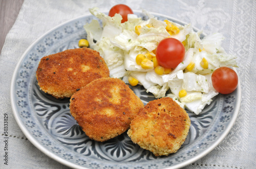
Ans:
{"type": "Polygon", "coordinates": [[[0,0],[0,53],[24,0],[0,0]]]}

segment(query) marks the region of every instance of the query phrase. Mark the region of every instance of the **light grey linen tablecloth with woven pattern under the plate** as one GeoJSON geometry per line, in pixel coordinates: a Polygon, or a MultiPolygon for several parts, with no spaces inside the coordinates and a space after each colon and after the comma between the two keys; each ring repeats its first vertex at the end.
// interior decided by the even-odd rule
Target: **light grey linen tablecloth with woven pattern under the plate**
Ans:
{"type": "MultiPolygon", "coordinates": [[[[256,168],[256,1],[32,1],[25,0],[6,37],[0,55],[0,168],[68,168],[51,159],[26,138],[17,125],[10,102],[11,77],[25,50],[41,35],[69,19],[89,14],[89,8],[108,11],[115,4],[171,16],[203,30],[221,32],[223,47],[237,55],[241,109],[225,139],[209,154],[185,168],[256,168]],[[8,165],[4,164],[4,117],[8,116],[8,165]]],[[[1,25],[0,25],[1,26],[1,25]]]]}

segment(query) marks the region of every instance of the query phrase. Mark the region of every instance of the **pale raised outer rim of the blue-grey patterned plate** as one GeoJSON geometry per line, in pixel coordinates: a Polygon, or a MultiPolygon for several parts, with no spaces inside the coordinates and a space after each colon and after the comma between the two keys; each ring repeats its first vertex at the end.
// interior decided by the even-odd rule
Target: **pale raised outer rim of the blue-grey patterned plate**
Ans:
{"type": "MultiPolygon", "coordinates": [[[[101,12],[101,11],[100,11],[101,12]]],[[[102,11],[102,13],[106,13],[108,11],[102,11]]],[[[134,10],[134,12],[137,12],[137,13],[142,13],[141,10],[134,10]]],[[[184,21],[181,21],[179,19],[176,19],[174,17],[170,17],[170,16],[167,16],[167,15],[164,15],[164,14],[160,14],[160,13],[155,13],[155,12],[150,12],[150,14],[152,15],[158,15],[158,16],[162,16],[162,17],[166,17],[168,19],[173,19],[177,22],[180,22],[180,23],[183,23],[183,24],[188,24],[184,21]]],[[[15,102],[14,102],[14,83],[15,83],[15,76],[16,74],[18,73],[18,69],[20,68],[21,64],[22,64],[22,61],[24,60],[24,58],[26,57],[26,54],[33,48],[33,46],[39,42],[42,38],[44,38],[46,35],[48,35],[49,33],[51,33],[52,31],[58,29],[59,27],[69,23],[69,22],[72,22],[74,20],[77,20],[77,19],[80,19],[80,18],[84,18],[84,17],[87,17],[87,16],[92,16],[91,13],[87,13],[87,14],[84,14],[82,16],[79,16],[79,17],[75,17],[75,18],[72,18],[72,19],[68,19],[67,21],[64,21],[56,26],[54,26],[52,29],[48,30],[46,33],[42,34],[41,36],[39,36],[38,38],[36,38],[34,40],[33,43],[31,43],[29,45],[29,47],[23,52],[22,56],[19,58],[19,61],[17,62],[16,66],[15,66],[15,69],[13,71],[13,74],[12,74],[12,78],[11,78],[11,87],[10,87],[10,101],[11,101],[11,107],[12,107],[12,112],[13,112],[13,115],[14,115],[14,118],[19,126],[19,128],[23,131],[24,135],[29,139],[29,141],[38,149],[40,150],[42,153],[44,153],[45,155],[47,155],[48,157],[56,160],[57,162],[63,164],[63,165],[66,165],[66,166],[69,166],[69,167],[72,167],[72,168],[87,168],[87,167],[81,167],[77,164],[74,164],[72,162],[69,162],[68,160],[65,160],[59,156],[56,156],[54,153],[52,153],[51,151],[47,150],[44,146],[42,146],[41,144],[39,144],[39,142],[34,138],[32,137],[32,135],[30,134],[29,130],[25,127],[25,125],[23,125],[21,119],[19,119],[18,117],[18,112],[17,112],[17,108],[16,108],[16,105],[15,105],[15,102]]],[[[199,29],[197,29],[197,27],[194,27],[193,26],[193,29],[196,30],[196,31],[200,31],[199,29]]],[[[206,35],[203,33],[203,35],[206,35]]],[[[233,68],[234,71],[237,72],[236,68],[233,68]]],[[[219,137],[216,142],[214,144],[212,144],[211,146],[209,146],[205,151],[203,151],[201,154],[193,157],[193,158],[190,158],[188,160],[185,160],[179,164],[176,164],[174,166],[169,166],[167,168],[173,168],[173,167],[184,167],[186,165],[189,165],[199,159],[201,159],[202,157],[204,157],[205,155],[207,155],[208,153],[210,153],[212,150],[214,150],[221,142],[222,140],[227,136],[227,134],[230,132],[232,126],[234,125],[234,123],[236,122],[237,120],[237,117],[238,117],[238,114],[239,114],[239,111],[240,111],[240,106],[241,106],[241,83],[240,83],[240,79],[239,79],[239,82],[238,82],[238,87],[237,87],[237,103],[236,103],[236,109],[234,110],[233,114],[234,116],[232,117],[232,119],[230,120],[229,124],[227,125],[227,128],[225,130],[225,132],[223,132],[223,134],[221,135],[221,137],[219,137]]]]}

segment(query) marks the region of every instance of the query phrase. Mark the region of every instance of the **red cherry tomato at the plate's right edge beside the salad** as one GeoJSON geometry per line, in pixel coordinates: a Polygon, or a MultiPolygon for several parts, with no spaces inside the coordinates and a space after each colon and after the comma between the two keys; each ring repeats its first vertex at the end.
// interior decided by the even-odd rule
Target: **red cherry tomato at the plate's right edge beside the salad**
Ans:
{"type": "Polygon", "coordinates": [[[228,67],[220,67],[211,75],[212,86],[221,94],[229,94],[237,89],[238,75],[228,67]]]}

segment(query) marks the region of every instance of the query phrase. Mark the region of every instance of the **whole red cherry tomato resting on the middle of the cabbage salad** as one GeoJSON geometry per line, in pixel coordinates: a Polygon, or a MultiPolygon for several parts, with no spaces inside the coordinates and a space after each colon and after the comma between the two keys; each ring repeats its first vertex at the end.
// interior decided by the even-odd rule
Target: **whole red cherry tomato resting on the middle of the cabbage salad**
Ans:
{"type": "Polygon", "coordinates": [[[166,38],[159,42],[156,58],[164,68],[176,68],[185,57],[184,45],[175,38],[166,38]]]}

